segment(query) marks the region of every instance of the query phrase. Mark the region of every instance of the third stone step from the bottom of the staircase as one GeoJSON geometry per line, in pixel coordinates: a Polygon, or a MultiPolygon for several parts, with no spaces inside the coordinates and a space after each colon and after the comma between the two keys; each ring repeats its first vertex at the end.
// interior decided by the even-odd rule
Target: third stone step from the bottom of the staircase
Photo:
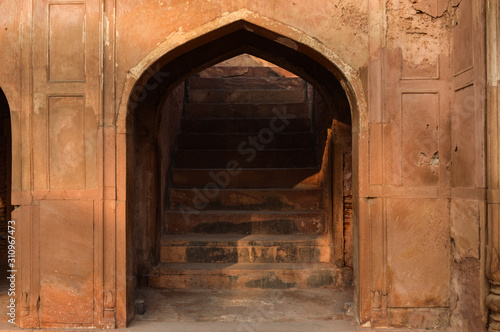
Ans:
{"type": "Polygon", "coordinates": [[[325,211],[226,211],[181,207],[165,215],[166,234],[323,234],[325,211]]]}

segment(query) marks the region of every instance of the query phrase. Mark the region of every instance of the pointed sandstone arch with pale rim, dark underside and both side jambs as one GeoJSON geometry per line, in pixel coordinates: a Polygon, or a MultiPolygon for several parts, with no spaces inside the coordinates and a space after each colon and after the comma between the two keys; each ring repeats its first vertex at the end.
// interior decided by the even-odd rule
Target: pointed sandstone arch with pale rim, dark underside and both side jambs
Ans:
{"type": "MultiPolygon", "coordinates": [[[[353,198],[354,198],[354,248],[355,248],[355,303],[357,314],[364,323],[370,312],[369,246],[364,243],[369,239],[369,225],[360,220],[357,211],[357,199],[366,188],[368,172],[360,160],[368,160],[368,116],[360,73],[343,61],[332,49],[321,41],[292,26],[268,17],[242,9],[188,32],[177,32],[167,37],[143,60],[128,72],[116,117],[117,159],[127,160],[117,173],[118,200],[130,200],[127,190],[127,178],[133,172],[131,155],[133,145],[131,122],[140,103],[159,103],[161,97],[189,76],[210,67],[220,61],[241,53],[251,53],[276,63],[295,72],[310,81],[322,94],[336,99],[349,112],[349,121],[353,129],[353,198]],[[195,56],[195,54],[197,54],[195,56]],[[152,97],[154,96],[154,97],[152,97]],[[156,100],[155,100],[156,98],[156,100]],[[362,169],[362,170],[360,170],[362,169]]],[[[143,105],[147,109],[148,105],[143,105]]],[[[126,204],[129,206],[130,204],[126,204]]],[[[131,213],[126,213],[125,220],[118,226],[119,243],[127,245],[130,234],[131,213]],[[130,232],[129,232],[130,233],[130,232]]],[[[127,261],[129,248],[118,252],[127,261]]],[[[130,266],[124,264],[123,266],[130,266]]],[[[127,307],[133,298],[133,292],[125,280],[130,280],[127,271],[119,274],[118,283],[127,293],[127,307]],[[125,289],[126,288],[126,289],[125,289]]],[[[130,283],[130,281],[128,281],[130,283]]]]}

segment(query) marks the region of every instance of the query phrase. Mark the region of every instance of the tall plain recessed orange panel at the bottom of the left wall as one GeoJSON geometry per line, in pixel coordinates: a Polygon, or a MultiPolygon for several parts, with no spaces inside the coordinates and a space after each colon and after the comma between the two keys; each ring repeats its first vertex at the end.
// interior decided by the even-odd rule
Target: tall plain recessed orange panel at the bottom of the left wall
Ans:
{"type": "Polygon", "coordinates": [[[93,321],[93,201],[40,202],[40,320],[93,321]]]}

